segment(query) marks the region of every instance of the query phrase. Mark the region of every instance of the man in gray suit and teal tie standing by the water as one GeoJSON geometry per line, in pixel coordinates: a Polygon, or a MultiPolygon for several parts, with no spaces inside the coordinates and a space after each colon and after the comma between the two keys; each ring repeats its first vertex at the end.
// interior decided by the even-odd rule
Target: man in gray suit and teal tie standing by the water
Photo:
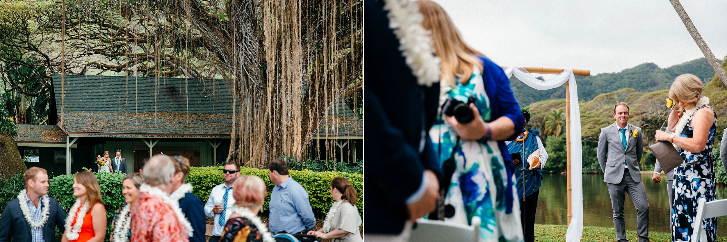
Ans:
{"type": "Polygon", "coordinates": [[[643,136],[640,128],[629,124],[629,105],[626,102],[614,105],[614,118],[616,122],[602,128],[601,136],[598,137],[598,163],[605,174],[603,182],[608,185],[611,195],[616,241],[628,241],[624,222],[625,192],[636,207],[638,241],[646,242],[648,201],[638,168],[643,155],[643,136]]]}

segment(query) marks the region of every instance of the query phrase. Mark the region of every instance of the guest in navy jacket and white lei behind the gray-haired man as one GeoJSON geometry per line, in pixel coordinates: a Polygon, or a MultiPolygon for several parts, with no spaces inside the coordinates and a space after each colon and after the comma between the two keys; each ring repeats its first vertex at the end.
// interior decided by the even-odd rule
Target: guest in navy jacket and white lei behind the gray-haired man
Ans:
{"type": "Polygon", "coordinates": [[[189,176],[189,159],[178,155],[171,157],[175,162],[172,186],[169,187],[171,192],[169,197],[179,201],[182,213],[185,214],[185,218],[192,225],[193,235],[189,238],[189,241],[204,242],[204,232],[206,231],[204,206],[202,206],[202,201],[192,194],[192,185],[185,183],[189,176]]]}

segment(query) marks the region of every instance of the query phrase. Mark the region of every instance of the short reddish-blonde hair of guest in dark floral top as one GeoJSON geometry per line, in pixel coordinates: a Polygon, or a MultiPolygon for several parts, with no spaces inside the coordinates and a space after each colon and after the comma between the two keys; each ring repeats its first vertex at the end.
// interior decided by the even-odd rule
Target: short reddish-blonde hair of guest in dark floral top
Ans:
{"type": "Polygon", "coordinates": [[[233,185],[235,202],[248,209],[260,209],[268,195],[265,182],[260,177],[247,175],[238,177],[233,185]]]}

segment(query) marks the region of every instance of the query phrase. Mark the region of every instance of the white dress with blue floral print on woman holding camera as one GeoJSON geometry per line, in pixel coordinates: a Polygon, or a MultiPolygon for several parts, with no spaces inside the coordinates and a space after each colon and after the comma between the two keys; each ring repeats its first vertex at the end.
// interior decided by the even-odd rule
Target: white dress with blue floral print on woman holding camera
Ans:
{"type": "MultiPolygon", "coordinates": [[[[478,68],[466,84],[459,80],[455,82],[457,86],[453,87],[442,81],[440,106],[449,97],[466,103],[467,98],[473,96],[477,99],[474,103],[480,116],[490,120],[491,103],[478,68]]],[[[444,198],[445,204],[454,206],[454,217],[445,220],[470,225],[473,217],[480,217],[481,241],[523,241],[517,191],[513,187],[507,189],[515,180],[507,174],[497,142],[462,140],[455,145],[457,132],[442,117],[438,117],[429,134],[435,152],[439,154],[440,166],[455,152],[457,168],[444,198]],[[508,196],[507,192],[513,194],[508,196]]]]}

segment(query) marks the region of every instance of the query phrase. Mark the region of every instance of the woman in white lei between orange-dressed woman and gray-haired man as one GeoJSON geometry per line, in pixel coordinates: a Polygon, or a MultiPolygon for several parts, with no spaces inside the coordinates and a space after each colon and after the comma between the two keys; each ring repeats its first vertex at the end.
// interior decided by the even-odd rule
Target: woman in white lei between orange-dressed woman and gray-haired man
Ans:
{"type": "Polygon", "coordinates": [[[116,218],[111,227],[111,241],[126,242],[132,236],[131,232],[131,206],[139,200],[139,187],[144,183],[144,178],[139,173],[127,174],[122,182],[124,189],[124,207],[116,211],[116,218]]]}

